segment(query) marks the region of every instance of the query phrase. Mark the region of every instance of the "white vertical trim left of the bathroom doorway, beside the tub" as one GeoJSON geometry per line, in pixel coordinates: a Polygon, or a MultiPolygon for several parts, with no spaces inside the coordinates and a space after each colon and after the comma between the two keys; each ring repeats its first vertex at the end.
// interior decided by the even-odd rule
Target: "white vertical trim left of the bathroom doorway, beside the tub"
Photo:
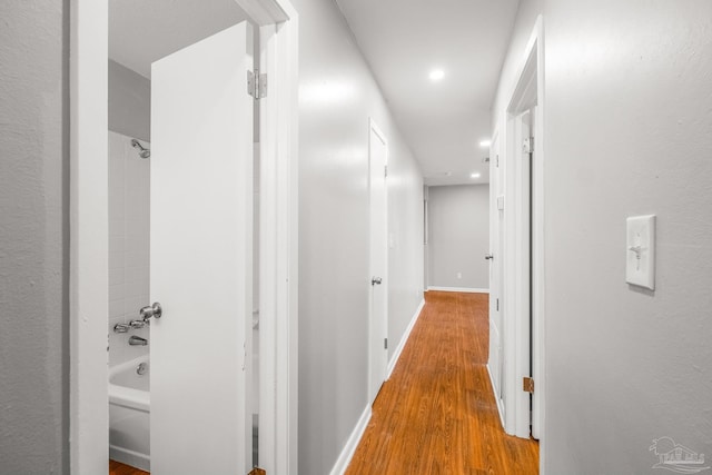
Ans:
{"type": "Polygon", "coordinates": [[[108,1],[70,2],[70,472],[109,458],[108,1]]]}

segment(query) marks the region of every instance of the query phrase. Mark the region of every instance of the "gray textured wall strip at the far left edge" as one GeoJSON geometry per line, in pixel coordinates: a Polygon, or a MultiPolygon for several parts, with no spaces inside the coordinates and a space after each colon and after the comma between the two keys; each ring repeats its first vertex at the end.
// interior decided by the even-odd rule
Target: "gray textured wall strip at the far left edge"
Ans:
{"type": "Polygon", "coordinates": [[[68,7],[0,2],[0,473],[69,472],[68,7]]]}

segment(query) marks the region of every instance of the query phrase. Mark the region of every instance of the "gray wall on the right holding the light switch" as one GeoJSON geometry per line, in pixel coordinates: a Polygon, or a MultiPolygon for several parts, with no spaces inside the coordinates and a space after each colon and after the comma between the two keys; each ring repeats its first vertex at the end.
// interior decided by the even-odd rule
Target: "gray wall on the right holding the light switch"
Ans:
{"type": "Polygon", "coordinates": [[[712,3],[545,4],[544,468],[651,473],[661,436],[712,453],[712,3]],[[625,284],[642,214],[654,293],[625,284]]]}

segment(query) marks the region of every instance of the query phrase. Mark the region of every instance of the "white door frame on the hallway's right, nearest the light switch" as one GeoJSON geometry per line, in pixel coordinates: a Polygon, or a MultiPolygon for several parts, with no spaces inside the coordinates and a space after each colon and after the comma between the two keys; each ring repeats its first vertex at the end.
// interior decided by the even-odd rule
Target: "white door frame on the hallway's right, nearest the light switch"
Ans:
{"type": "MultiPolygon", "coordinates": [[[[544,136],[544,22],[538,16],[534,24],[534,30],[530,37],[522,60],[517,67],[514,87],[506,96],[508,98],[507,108],[504,110],[504,128],[502,129],[502,155],[504,156],[505,175],[505,256],[504,256],[504,298],[503,298],[503,320],[505,334],[505,424],[504,428],[508,434],[518,437],[530,437],[530,422],[535,427],[535,436],[538,436],[542,444],[545,444],[545,289],[544,289],[544,218],[545,218],[545,192],[544,192],[544,161],[545,161],[545,136],[544,136]],[[522,208],[522,169],[517,167],[517,150],[521,144],[516,142],[516,117],[524,111],[534,100],[536,105],[534,116],[535,160],[532,162],[532,212],[524,214],[522,208]],[[521,247],[525,236],[528,234],[530,218],[531,229],[531,258],[532,258],[532,327],[530,329],[528,309],[522,308],[522,298],[528,293],[524,289],[525,278],[528,281],[525,265],[517,256],[517,246],[521,247]],[[532,399],[532,419],[528,410],[528,393],[522,389],[522,376],[530,374],[530,344],[528,333],[532,333],[532,377],[535,379],[535,392],[532,399]]],[[[521,250],[521,249],[520,249],[521,250]]]]}

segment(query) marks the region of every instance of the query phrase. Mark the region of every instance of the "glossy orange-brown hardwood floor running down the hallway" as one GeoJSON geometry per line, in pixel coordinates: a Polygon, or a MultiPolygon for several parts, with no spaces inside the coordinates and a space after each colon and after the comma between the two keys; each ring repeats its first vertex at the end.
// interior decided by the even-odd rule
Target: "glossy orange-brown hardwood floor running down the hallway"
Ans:
{"type": "Polygon", "coordinates": [[[485,367],[487,305],[486,294],[426,294],[347,475],[538,473],[538,443],[500,423],[485,367]]]}

